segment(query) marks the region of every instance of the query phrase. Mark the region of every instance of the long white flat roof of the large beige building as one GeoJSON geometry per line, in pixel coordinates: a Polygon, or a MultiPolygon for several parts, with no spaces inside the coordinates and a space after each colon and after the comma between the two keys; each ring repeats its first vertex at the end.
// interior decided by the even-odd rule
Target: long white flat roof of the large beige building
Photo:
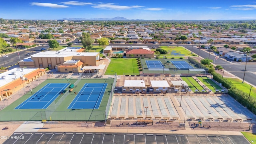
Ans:
{"type": "Polygon", "coordinates": [[[97,56],[99,52],[76,52],[76,51],[45,51],[33,54],[31,57],[34,58],[49,58],[49,57],[66,57],[66,56],[97,56]]]}

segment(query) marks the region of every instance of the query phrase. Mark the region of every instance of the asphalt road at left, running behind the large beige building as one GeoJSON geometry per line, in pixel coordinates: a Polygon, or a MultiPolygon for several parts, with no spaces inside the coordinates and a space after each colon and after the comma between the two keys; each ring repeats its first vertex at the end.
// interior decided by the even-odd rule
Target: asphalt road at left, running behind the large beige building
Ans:
{"type": "Polygon", "coordinates": [[[6,67],[17,64],[18,61],[29,57],[29,56],[25,56],[25,54],[27,54],[27,53],[36,54],[38,52],[42,52],[41,48],[46,48],[47,49],[47,48],[49,48],[49,46],[48,45],[46,45],[46,46],[37,46],[35,48],[28,48],[26,50],[21,50],[21,51],[19,51],[20,58],[19,58],[18,52],[8,54],[8,57],[0,58],[0,67],[4,66],[4,63],[5,63],[6,67]]]}

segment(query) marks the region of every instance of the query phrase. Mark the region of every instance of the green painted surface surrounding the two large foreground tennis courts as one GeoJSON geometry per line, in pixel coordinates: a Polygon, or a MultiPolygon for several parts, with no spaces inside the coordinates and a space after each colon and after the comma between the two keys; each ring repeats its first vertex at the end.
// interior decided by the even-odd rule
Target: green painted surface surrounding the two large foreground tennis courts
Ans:
{"type": "Polygon", "coordinates": [[[18,100],[0,111],[0,121],[24,121],[24,120],[79,120],[93,121],[105,120],[106,107],[110,96],[111,86],[114,79],[48,79],[42,82],[32,91],[36,92],[46,86],[48,83],[70,83],[75,84],[74,90],[69,92],[66,88],[64,94],[60,94],[47,109],[14,109],[22,102],[32,96],[28,92],[18,100]],[[107,84],[106,93],[104,93],[98,109],[67,109],[85,83],[103,83],[107,84]]]}

